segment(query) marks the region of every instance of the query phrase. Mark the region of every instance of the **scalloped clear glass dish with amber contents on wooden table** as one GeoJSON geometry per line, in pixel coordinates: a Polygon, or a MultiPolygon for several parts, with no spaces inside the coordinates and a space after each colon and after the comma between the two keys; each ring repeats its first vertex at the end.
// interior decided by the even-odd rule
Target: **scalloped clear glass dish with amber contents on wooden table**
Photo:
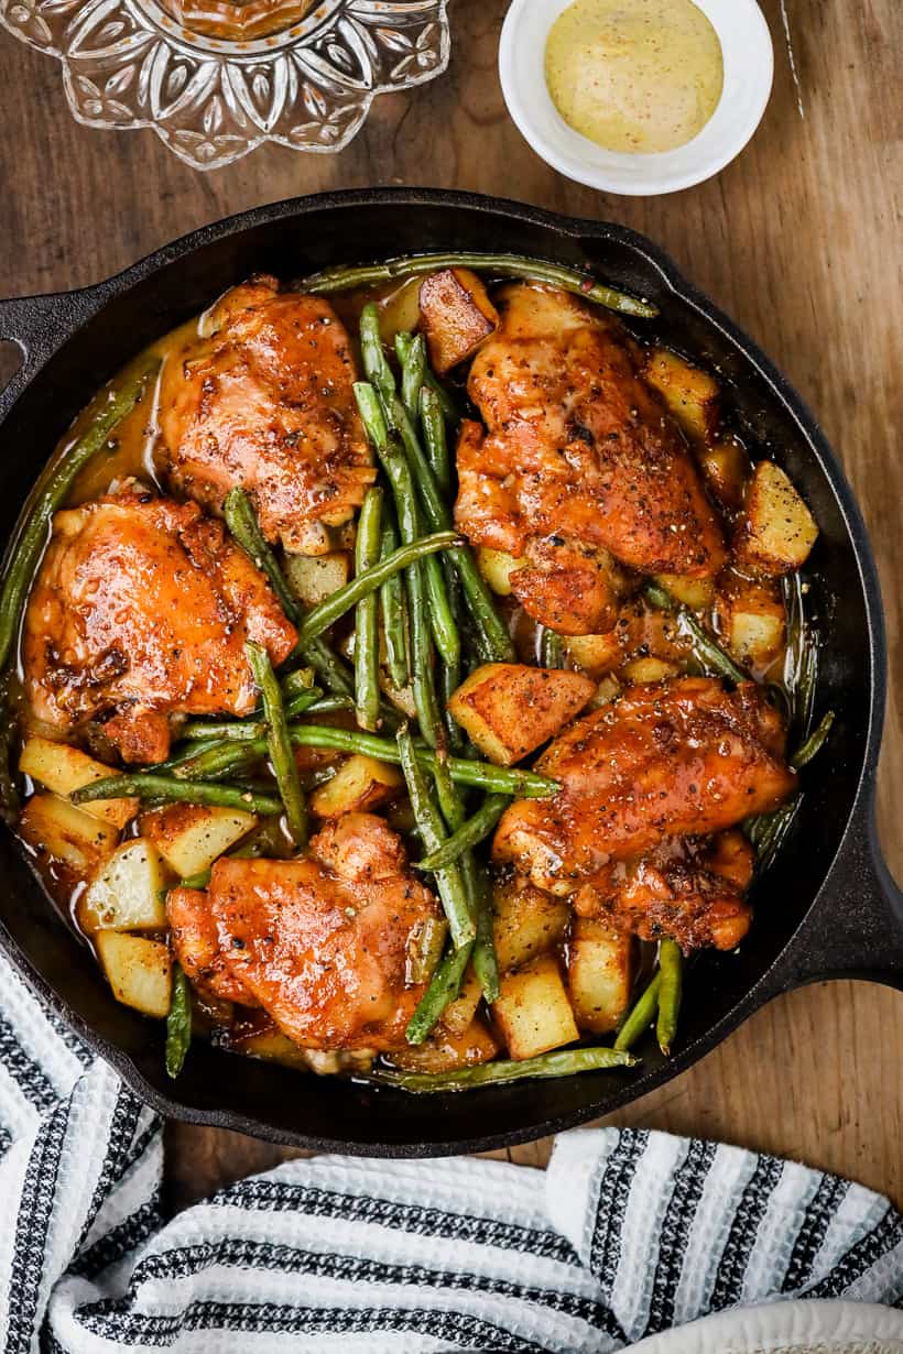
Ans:
{"type": "Polygon", "coordinates": [[[268,141],[341,150],[376,95],[445,69],[445,8],[447,0],[0,0],[0,24],[57,57],[79,122],[150,127],[185,164],[215,169],[268,141]]]}

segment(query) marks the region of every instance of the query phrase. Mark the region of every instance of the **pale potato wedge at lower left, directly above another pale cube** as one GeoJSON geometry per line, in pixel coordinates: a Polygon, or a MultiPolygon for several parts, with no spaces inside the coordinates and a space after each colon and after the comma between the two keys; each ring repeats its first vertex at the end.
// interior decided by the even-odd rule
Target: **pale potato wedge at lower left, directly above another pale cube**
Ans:
{"type": "Polygon", "coordinates": [[[118,846],[79,902],[79,922],[96,930],[161,930],[167,925],[162,861],[153,842],[137,837],[118,846]]]}

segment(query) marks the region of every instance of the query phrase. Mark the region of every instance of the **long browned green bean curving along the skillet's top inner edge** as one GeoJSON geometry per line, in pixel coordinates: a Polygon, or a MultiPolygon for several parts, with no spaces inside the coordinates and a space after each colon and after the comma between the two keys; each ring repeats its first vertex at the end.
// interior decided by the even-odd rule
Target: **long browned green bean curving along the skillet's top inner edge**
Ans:
{"type": "Polygon", "coordinates": [[[393,282],[395,278],[421,278],[441,268],[475,268],[495,278],[527,278],[532,282],[546,282],[563,291],[573,291],[607,310],[616,310],[623,315],[636,315],[640,320],[653,320],[658,314],[658,307],[650,302],[636,301],[635,297],[607,287],[579,268],[566,268],[544,259],[528,259],[521,255],[474,250],[409,255],[402,259],[389,259],[386,263],[324,268],[322,272],[315,272],[305,279],[303,290],[326,297],[334,291],[352,291],[357,287],[375,286],[378,282],[393,282]]]}

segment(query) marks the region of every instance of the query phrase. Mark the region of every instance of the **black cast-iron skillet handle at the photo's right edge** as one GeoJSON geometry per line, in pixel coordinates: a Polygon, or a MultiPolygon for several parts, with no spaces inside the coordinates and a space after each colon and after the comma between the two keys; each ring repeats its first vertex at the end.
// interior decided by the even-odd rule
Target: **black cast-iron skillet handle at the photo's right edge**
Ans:
{"type": "Polygon", "coordinates": [[[856,807],[815,907],[766,983],[777,995],[824,978],[864,978],[903,991],[903,892],[881,854],[873,787],[856,807]]]}

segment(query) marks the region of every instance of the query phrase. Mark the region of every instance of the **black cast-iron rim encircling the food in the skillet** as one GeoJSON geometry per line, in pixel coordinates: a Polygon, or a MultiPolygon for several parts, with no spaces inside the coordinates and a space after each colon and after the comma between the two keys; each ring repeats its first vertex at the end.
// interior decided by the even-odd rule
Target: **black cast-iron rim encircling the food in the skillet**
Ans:
{"type": "MultiPolygon", "coordinates": [[[[542,1124],[516,1128],[501,1133],[486,1136],[458,1139],[455,1141],[441,1141],[431,1144],[416,1143],[357,1143],[333,1137],[314,1137],[303,1133],[276,1128],[255,1116],[244,1114],[230,1109],[196,1109],[183,1105],[173,1095],[158,1091],[145,1079],[130,1053],[116,1044],[111,1044],[104,1036],[96,1033],[85,1020],[72,1010],[69,1003],[50,986],[41,972],[34,967],[31,959],[24,955],[18,942],[8,933],[0,919],[0,944],[12,963],[26,980],[38,991],[39,997],[57,1013],[65,1024],[100,1057],[110,1063],[122,1079],[157,1113],[177,1118],[183,1122],[204,1124],[217,1128],[249,1133],[252,1136],[273,1143],[284,1143],[295,1147],[306,1147],[314,1151],[338,1151],[347,1155],[382,1156],[382,1158],[410,1158],[410,1156],[448,1156],[460,1152],[482,1152],[498,1147],[513,1145],[524,1141],[533,1141],[540,1136],[558,1133],[563,1129],[585,1124],[597,1118],[602,1113],[630,1104],[647,1094],[653,1089],[665,1085],[674,1076],[686,1071],[699,1062],[707,1052],[722,1043],[734,1029],[747,1020],[759,1006],[772,997],[787,991],[800,982],[806,982],[806,974],[800,978],[792,972],[789,960],[800,946],[801,933],[812,921],[812,917],[823,902],[826,891],[831,884],[838,868],[843,865],[843,857],[850,849],[850,841],[858,829],[864,827],[871,808],[873,792],[875,769],[880,749],[881,728],[884,722],[884,705],[887,693],[887,649],[885,627],[881,607],[881,590],[877,575],[875,556],[865,529],[865,523],[860,512],[856,496],[850,487],[846,474],[837,459],[827,437],[808,409],[806,401],[783,375],[783,372],[762,352],[734,321],[731,321],[699,287],[690,283],[678,269],[670,256],[653,244],[647,237],[628,226],[615,222],[594,221],[592,218],[570,217],[550,211],[544,207],[533,207],[508,198],[474,194],[460,190],[444,188],[353,188],[334,192],[310,194],[298,198],[282,199],[260,207],[252,207],[242,213],[223,217],[177,237],[162,245],[160,249],[144,256],[127,265],[120,272],[110,278],[70,292],[57,292],[37,298],[22,298],[18,305],[27,306],[28,301],[35,305],[50,305],[54,299],[68,298],[76,303],[76,314],[70,324],[65,324],[65,332],[54,333],[53,341],[46,351],[38,355],[34,367],[26,360],[20,374],[15,398],[5,409],[0,424],[5,422],[22,394],[37,382],[46,363],[87,325],[96,320],[103,309],[114,299],[123,297],[133,286],[145,282],[161,268],[169,264],[185,264],[194,252],[204,245],[240,236],[255,227],[271,225],[276,221],[291,218],[303,219],[314,211],[363,209],[375,204],[432,207],[432,209],[468,209],[495,218],[508,217],[521,222],[536,225],[548,230],[552,236],[566,237],[579,244],[585,238],[611,240],[624,245],[628,250],[639,255],[647,264],[651,264],[661,275],[665,286],[678,299],[692,306],[707,324],[708,328],[720,332],[728,345],[738,351],[757,370],[759,378],[768,385],[774,398],[792,416],[803,440],[815,456],[815,460],[827,481],[830,490],[841,513],[843,527],[856,558],[857,580],[862,594],[865,627],[868,632],[869,657],[869,709],[868,724],[861,738],[861,760],[856,788],[850,803],[846,825],[839,833],[837,848],[830,860],[823,867],[823,877],[815,890],[808,907],[799,919],[797,926],[788,937],[785,945],[778,951],[772,964],[765,968],[745,995],[735,1002],[719,1021],[709,1025],[690,1044],[685,1045],[678,1055],[667,1063],[643,1074],[638,1070],[631,1085],[620,1090],[609,1091],[601,1102],[592,1102],[579,1109],[570,1110],[558,1117],[547,1118],[542,1124]],[[776,982],[777,978],[777,982],[776,982]],[[428,1151],[424,1151],[428,1147],[428,1151]]],[[[5,559],[4,559],[5,566],[5,559]]],[[[609,1083],[611,1085],[611,1083],[609,1083]]],[[[176,1090],[177,1083],[173,1083],[176,1090]]],[[[382,1091],[386,1094],[386,1091],[382,1091]]],[[[387,1094],[395,1094],[389,1091],[387,1094]]],[[[402,1094],[402,1093],[397,1093],[402,1094]]],[[[474,1093],[471,1093],[472,1095],[474,1093]]],[[[440,1097],[441,1099],[441,1097],[440,1097]]],[[[479,1097],[475,1104],[479,1102],[479,1097]]],[[[437,1101],[439,1104],[439,1101],[437,1101]]]]}

